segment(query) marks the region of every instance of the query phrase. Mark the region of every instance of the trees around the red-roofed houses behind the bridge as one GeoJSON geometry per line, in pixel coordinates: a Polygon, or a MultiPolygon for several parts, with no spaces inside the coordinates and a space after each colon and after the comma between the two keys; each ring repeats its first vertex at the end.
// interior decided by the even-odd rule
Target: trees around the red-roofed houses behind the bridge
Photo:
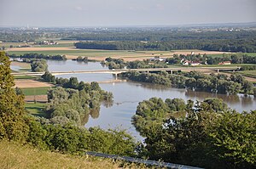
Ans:
{"type": "Polygon", "coordinates": [[[101,62],[102,65],[108,66],[112,69],[147,69],[147,68],[167,68],[168,65],[182,65],[185,60],[190,62],[200,62],[202,65],[218,65],[224,61],[230,61],[231,64],[252,64],[241,65],[241,70],[255,70],[256,56],[247,54],[223,54],[223,57],[211,56],[207,54],[174,54],[172,58],[166,58],[163,61],[158,60],[159,56],[155,56],[155,60],[144,59],[127,61],[124,59],[106,58],[101,62]]]}

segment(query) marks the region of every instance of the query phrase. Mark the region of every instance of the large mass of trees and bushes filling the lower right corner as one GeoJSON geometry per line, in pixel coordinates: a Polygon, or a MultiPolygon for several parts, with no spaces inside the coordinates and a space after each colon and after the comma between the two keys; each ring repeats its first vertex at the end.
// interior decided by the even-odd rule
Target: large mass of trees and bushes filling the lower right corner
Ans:
{"type": "Polygon", "coordinates": [[[255,167],[255,120],[255,110],[238,113],[222,99],[152,98],[132,117],[145,137],[139,155],[205,168],[255,167]]]}

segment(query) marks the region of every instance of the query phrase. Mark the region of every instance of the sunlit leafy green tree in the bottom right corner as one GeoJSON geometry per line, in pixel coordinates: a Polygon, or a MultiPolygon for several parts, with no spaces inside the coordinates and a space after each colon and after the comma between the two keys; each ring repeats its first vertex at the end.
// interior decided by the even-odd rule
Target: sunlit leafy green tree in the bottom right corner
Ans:
{"type": "Polygon", "coordinates": [[[256,167],[256,111],[225,112],[209,133],[213,157],[230,168],[256,167]]]}

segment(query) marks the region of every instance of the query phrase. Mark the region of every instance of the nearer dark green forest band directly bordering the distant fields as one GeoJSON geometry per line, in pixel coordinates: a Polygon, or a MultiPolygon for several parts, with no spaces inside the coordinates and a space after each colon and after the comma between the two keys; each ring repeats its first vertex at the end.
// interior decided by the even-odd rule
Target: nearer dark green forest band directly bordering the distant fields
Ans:
{"type": "Polygon", "coordinates": [[[76,42],[76,48],[85,49],[104,49],[104,50],[180,50],[180,49],[200,49],[207,51],[220,52],[242,52],[253,53],[256,48],[253,45],[255,40],[247,42],[246,40],[237,42],[224,41],[207,41],[198,42],[198,40],[177,40],[173,42],[137,42],[137,41],[115,41],[115,42],[76,42]]]}

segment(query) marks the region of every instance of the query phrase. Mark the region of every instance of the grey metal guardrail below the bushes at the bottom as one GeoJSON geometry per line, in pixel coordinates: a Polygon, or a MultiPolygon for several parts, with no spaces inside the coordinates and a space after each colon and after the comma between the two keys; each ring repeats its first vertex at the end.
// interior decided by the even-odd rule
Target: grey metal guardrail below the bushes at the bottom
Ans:
{"type": "Polygon", "coordinates": [[[168,162],[143,160],[143,159],[133,158],[133,157],[129,157],[129,156],[108,155],[108,154],[96,153],[96,152],[90,152],[90,151],[86,152],[85,154],[119,160],[119,161],[129,161],[129,162],[134,162],[134,163],[141,163],[141,164],[145,164],[148,166],[158,166],[158,167],[166,167],[166,168],[172,168],[172,169],[202,169],[200,167],[195,167],[195,166],[183,166],[183,165],[172,164],[172,163],[168,163],[168,162]]]}

